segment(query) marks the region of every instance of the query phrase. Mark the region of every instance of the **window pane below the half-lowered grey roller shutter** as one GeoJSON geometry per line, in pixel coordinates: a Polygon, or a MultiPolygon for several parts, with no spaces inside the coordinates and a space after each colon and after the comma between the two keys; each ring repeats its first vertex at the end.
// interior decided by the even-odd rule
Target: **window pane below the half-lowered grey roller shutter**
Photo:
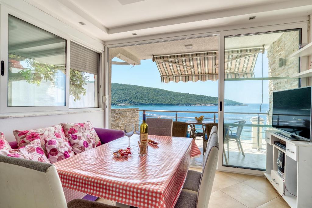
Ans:
{"type": "Polygon", "coordinates": [[[70,69],[70,108],[98,107],[98,76],[70,69]]]}

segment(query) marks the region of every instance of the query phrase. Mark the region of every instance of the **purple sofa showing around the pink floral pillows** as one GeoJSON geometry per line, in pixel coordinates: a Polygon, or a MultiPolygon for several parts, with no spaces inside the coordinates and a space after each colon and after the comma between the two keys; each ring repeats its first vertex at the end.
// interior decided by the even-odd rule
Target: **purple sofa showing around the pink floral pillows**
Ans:
{"type": "MultiPolygon", "coordinates": [[[[104,129],[104,128],[94,128],[96,134],[99,136],[100,141],[102,144],[108,143],[115,139],[119,139],[120,137],[124,136],[124,132],[122,130],[113,130],[113,129],[104,129]]],[[[17,149],[17,142],[12,141],[9,142],[12,149],[17,149]]],[[[85,195],[83,199],[95,201],[98,197],[92,195],[85,195]]]]}

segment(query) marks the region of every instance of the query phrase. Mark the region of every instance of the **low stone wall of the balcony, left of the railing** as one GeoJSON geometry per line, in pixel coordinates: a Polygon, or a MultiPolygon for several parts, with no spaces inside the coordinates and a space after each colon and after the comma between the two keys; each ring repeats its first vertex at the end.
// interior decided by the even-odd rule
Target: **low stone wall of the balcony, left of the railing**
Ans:
{"type": "Polygon", "coordinates": [[[111,109],[111,129],[124,130],[124,125],[139,122],[139,108],[111,109]]]}

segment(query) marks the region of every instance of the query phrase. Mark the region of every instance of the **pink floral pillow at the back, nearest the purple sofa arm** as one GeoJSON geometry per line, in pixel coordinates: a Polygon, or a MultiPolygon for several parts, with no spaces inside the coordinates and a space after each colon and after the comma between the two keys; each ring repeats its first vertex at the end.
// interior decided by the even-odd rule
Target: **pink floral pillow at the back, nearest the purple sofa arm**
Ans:
{"type": "Polygon", "coordinates": [[[67,124],[61,124],[64,130],[64,133],[67,138],[70,138],[69,135],[71,134],[87,134],[91,139],[95,141],[96,146],[101,145],[101,141],[99,136],[96,134],[92,124],[90,121],[84,122],[84,123],[67,123],[67,124]]]}

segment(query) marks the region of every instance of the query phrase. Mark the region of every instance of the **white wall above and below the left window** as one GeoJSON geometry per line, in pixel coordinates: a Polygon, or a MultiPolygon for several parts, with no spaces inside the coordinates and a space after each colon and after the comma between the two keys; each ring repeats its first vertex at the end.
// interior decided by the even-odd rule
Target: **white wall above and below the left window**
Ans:
{"type": "MultiPolygon", "coordinates": [[[[80,44],[83,44],[87,47],[90,47],[95,50],[104,50],[103,41],[96,39],[95,37],[90,37],[78,31],[71,26],[66,25],[64,22],[42,12],[40,9],[33,7],[32,5],[24,2],[22,0],[0,0],[1,6],[5,5],[6,7],[21,13],[22,15],[27,16],[35,21],[38,21],[38,25],[43,25],[46,28],[49,28],[49,31],[53,33],[66,34],[70,37],[71,40],[74,40],[80,44]]],[[[44,28],[44,29],[46,29],[44,28]]],[[[103,70],[103,69],[102,69],[103,70]]],[[[100,73],[104,74],[104,73],[100,73]]],[[[102,80],[101,78],[99,80],[102,80]]],[[[96,109],[92,109],[96,110],[96,109]]],[[[79,112],[81,110],[69,110],[69,111],[48,111],[48,112],[28,112],[27,115],[32,114],[33,116],[28,117],[13,117],[16,116],[16,113],[0,113],[0,131],[4,133],[8,141],[14,141],[12,131],[17,130],[27,130],[27,129],[36,129],[42,127],[48,127],[51,125],[56,125],[59,123],[76,123],[91,121],[94,127],[104,128],[105,126],[105,113],[102,109],[92,111],[85,109],[84,112],[79,112]],[[76,112],[75,112],[76,111],[76,112]],[[53,115],[46,115],[46,114],[53,115]],[[58,114],[59,113],[59,114],[58,114]],[[58,115],[56,115],[58,114],[58,115]]],[[[23,116],[23,113],[18,113],[18,115],[23,116]]]]}

